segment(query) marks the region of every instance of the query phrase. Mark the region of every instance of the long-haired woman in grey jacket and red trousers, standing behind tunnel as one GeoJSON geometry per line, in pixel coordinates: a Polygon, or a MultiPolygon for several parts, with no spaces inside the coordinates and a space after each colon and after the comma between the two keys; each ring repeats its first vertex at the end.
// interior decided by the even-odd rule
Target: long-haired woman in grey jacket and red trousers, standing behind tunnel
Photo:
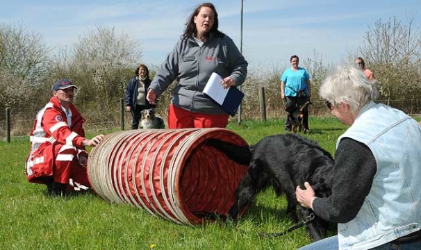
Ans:
{"type": "Polygon", "coordinates": [[[169,128],[224,128],[228,124],[229,115],[202,91],[213,72],[222,76],[224,88],[241,85],[247,61],[218,25],[215,6],[201,3],[149,87],[147,99],[155,103],[176,81],[168,110],[169,128]]]}

